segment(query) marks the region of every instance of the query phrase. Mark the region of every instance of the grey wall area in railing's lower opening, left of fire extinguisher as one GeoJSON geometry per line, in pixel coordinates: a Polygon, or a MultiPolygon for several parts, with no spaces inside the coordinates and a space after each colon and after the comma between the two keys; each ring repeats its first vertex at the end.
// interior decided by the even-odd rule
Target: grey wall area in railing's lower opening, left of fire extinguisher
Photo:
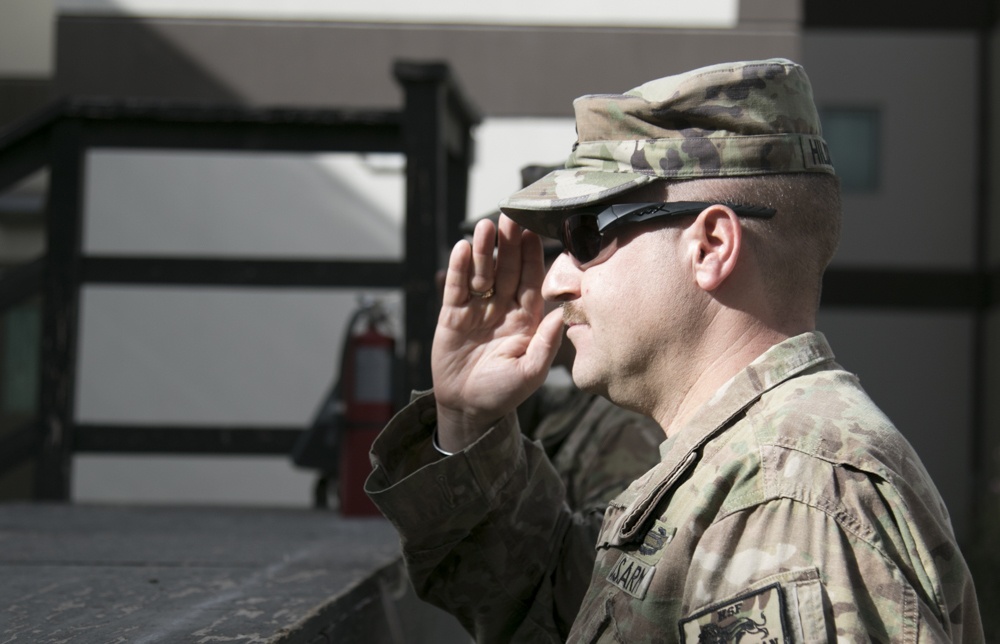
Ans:
{"type": "MultiPolygon", "coordinates": [[[[398,294],[366,293],[399,313],[398,294]]],[[[305,427],[356,304],[332,289],[86,287],[77,418],[305,427]]]]}

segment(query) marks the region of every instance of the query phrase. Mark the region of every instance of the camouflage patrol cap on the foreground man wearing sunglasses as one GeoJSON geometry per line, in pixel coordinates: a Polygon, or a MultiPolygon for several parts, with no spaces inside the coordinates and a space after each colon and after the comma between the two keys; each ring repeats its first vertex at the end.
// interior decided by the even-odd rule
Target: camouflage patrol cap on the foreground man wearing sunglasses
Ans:
{"type": "Polygon", "coordinates": [[[500,202],[554,237],[569,209],[654,181],[789,172],[833,174],[812,87],[790,60],[724,63],[573,102],[565,167],[500,202]]]}

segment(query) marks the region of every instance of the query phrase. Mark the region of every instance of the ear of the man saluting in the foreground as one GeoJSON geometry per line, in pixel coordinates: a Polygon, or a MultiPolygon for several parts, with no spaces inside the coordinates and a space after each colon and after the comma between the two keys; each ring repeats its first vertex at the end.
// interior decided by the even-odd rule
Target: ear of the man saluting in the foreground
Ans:
{"type": "Polygon", "coordinates": [[[695,282],[705,291],[714,291],[736,269],[743,247],[739,216],[728,206],[709,206],[701,211],[688,232],[695,282]]]}

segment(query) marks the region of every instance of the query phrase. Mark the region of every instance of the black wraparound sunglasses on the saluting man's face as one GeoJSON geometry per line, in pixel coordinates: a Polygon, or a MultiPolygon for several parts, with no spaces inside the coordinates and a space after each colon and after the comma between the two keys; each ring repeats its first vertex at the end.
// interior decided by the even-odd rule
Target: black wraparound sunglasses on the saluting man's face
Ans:
{"type": "Polygon", "coordinates": [[[709,206],[727,206],[741,217],[770,219],[774,208],[739,206],[724,202],[672,201],[667,203],[617,203],[589,210],[578,210],[563,220],[559,239],[569,254],[581,265],[592,262],[606,248],[605,235],[625,224],[637,224],[660,217],[697,215],[709,206]]]}

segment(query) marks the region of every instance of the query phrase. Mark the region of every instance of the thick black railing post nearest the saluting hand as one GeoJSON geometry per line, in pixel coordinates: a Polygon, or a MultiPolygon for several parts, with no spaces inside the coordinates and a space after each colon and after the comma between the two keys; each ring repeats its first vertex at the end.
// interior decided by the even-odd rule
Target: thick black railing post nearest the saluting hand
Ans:
{"type": "Polygon", "coordinates": [[[462,113],[464,103],[444,63],[399,62],[393,71],[405,93],[405,396],[431,386],[430,349],[440,306],[434,275],[446,266],[465,217],[474,117],[462,113]],[[463,141],[463,153],[450,160],[456,139],[463,141]]]}

